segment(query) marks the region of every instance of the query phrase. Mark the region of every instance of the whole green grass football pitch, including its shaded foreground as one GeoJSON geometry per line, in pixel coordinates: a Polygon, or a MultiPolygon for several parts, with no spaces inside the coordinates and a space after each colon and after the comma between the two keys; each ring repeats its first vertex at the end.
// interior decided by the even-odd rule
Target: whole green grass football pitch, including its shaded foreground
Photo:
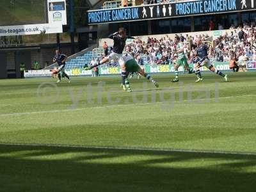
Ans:
{"type": "Polygon", "coordinates": [[[255,191],[256,74],[0,81],[0,191],[255,191]]]}

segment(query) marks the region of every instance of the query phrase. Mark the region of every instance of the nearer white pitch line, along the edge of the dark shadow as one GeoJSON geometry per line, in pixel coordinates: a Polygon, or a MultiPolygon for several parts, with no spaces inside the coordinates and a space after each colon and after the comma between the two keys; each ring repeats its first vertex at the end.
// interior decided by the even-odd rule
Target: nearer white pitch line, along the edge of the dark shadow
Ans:
{"type": "Polygon", "coordinates": [[[221,150],[193,150],[180,148],[141,148],[141,147],[100,147],[83,145],[58,145],[58,144],[37,144],[37,143],[0,143],[2,146],[23,146],[23,147],[62,147],[62,148],[84,148],[84,149],[102,149],[102,150],[130,150],[130,151],[148,151],[148,152],[184,152],[198,154],[225,154],[225,155],[243,155],[256,156],[252,152],[232,152],[221,150]]]}

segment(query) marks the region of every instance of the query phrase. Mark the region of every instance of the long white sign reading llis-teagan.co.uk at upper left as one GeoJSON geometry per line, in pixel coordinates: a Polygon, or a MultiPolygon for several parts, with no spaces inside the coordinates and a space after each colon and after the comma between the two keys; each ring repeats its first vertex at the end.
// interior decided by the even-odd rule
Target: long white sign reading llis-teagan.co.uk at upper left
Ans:
{"type": "Polygon", "coordinates": [[[62,33],[62,24],[31,24],[21,26],[0,26],[0,36],[39,35],[41,33],[62,33]]]}

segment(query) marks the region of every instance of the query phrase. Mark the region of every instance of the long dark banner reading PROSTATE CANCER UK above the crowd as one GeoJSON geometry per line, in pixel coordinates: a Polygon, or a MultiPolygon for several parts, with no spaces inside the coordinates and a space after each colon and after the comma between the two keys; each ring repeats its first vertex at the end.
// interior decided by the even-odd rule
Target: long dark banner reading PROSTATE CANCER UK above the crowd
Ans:
{"type": "MultiPolygon", "coordinates": [[[[256,4],[255,4],[256,6],[256,4]]],[[[184,17],[255,10],[254,0],[202,0],[90,10],[88,24],[184,17]]]]}

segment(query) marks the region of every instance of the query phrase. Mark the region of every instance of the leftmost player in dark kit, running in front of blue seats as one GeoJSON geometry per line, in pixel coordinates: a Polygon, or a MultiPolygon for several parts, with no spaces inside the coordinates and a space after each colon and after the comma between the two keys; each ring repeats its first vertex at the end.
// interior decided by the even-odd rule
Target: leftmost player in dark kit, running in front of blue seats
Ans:
{"type": "Polygon", "coordinates": [[[67,77],[68,79],[68,83],[70,83],[70,78],[68,77],[68,75],[65,73],[65,65],[66,65],[66,61],[67,61],[67,56],[65,54],[61,54],[60,50],[56,50],[55,51],[55,56],[53,58],[53,62],[57,62],[58,63],[58,81],[57,83],[60,83],[61,81],[61,77],[67,77]]]}

